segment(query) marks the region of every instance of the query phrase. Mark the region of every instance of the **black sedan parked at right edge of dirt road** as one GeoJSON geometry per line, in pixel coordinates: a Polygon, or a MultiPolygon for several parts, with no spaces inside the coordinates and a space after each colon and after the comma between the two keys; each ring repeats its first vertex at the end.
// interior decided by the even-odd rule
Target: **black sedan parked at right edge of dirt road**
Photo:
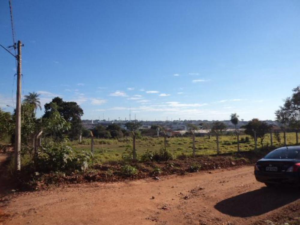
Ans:
{"type": "Polygon", "coordinates": [[[255,164],[255,178],[268,187],[275,184],[300,184],[300,146],[275,149],[255,164]]]}

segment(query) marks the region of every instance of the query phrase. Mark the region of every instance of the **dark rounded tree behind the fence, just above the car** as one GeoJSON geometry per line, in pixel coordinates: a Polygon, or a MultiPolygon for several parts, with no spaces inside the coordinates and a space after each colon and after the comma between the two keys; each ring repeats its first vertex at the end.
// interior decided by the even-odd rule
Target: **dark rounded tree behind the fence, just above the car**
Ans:
{"type": "Polygon", "coordinates": [[[266,122],[260,121],[259,119],[252,119],[247,125],[244,125],[245,134],[250,135],[254,138],[255,149],[257,149],[257,138],[260,138],[261,146],[263,147],[263,140],[265,139],[265,134],[271,130],[271,126],[266,122]]]}

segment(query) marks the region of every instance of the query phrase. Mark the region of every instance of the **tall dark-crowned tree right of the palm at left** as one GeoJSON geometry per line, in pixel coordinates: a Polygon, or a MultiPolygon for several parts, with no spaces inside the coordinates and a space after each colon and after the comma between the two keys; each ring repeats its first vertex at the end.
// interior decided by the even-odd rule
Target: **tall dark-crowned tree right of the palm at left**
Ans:
{"type": "Polygon", "coordinates": [[[50,103],[45,104],[45,114],[43,118],[48,118],[52,110],[53,104],[57,106],[57,111],[64,118],[66,122],[69,122],[71,127],[66,133],[70,138],[78,138],[82,130],[81,116],[83,116],[82,108],[76,102],[65,102],[62,98],[53,98],[50,103]]]}

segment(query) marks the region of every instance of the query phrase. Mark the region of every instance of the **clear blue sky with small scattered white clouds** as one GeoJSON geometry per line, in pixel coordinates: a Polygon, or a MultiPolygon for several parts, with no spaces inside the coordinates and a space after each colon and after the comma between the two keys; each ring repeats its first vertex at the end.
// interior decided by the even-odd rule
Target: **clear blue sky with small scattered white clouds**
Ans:
{"type": "MultiPolygon", "coordinates": [[[[300,1],[13,0],[13,16],[22,94],[76,101],[83,119],[129,119],[129,106],[131,119],[274,119],[300,84],[300,1]]],[[[0,34],[12,44],[8,1],[0,34]]],[[[0,50],[8,111],[14,74],[0,50]]]]}

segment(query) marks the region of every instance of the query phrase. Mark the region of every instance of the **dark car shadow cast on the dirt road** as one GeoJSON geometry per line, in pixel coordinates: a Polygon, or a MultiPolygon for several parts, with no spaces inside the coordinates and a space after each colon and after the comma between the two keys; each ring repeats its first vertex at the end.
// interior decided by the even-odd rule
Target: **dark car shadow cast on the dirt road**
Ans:
{"type": "Polygon", "coordinates": [[[272,211],[299,198],[299,187],[262,187],[224,199],[214,208],[231,216],[250,217],[272,211]]]}

